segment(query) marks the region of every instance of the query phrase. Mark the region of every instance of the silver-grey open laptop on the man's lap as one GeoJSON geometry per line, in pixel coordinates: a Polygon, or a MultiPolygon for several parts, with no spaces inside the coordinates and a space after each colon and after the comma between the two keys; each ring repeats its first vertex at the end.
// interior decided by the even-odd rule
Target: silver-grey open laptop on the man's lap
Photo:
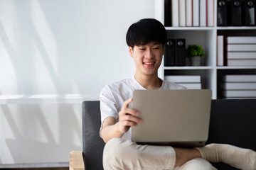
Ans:
{"type": "Polygon", "coordinates": [[[132,127],[139,144],[201,147],[208,140],[211,91],[135,90],[132,108],[142,123],[132,127]]]}

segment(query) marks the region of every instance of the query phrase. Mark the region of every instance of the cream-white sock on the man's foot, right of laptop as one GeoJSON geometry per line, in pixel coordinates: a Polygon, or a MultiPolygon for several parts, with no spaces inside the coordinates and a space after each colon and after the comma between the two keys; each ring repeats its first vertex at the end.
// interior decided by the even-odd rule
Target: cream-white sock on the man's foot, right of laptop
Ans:
{"type": "Polygon", "coordinates": [[[251,149],[225,144],[210,144],[196,149],[208,162],[224,162],[238,169],[256,170],[256,152],[251,149]]]}

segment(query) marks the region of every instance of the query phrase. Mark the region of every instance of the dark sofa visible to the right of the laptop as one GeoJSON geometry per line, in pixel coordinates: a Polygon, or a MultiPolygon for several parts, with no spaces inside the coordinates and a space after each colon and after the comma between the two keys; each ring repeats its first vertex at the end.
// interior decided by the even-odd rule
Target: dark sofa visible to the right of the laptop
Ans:
{"type": "MultiPolygon", "coordinates": [[[[223,143],[256,150],[256,99],[213,100],[208,143],[223,143]]],[[[235,169],[223,163],[218,169],[235,169]]]]}

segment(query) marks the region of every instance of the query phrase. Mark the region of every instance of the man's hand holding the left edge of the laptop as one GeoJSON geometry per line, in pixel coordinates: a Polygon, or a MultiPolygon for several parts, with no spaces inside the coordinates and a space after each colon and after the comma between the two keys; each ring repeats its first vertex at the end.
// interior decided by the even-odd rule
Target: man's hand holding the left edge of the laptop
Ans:
{"type": "Polygon", "coordinates": [[[129,103],[132,103],[132,98],[124,101],[124,105],[118,113],[119,122],[117,123],[117,130],[122,133],[127,132],[131,126],[136,126],[137,123],[142,122],[140,118],[135,117],[139,115],[139,112],[128,108],[129,103]]]}

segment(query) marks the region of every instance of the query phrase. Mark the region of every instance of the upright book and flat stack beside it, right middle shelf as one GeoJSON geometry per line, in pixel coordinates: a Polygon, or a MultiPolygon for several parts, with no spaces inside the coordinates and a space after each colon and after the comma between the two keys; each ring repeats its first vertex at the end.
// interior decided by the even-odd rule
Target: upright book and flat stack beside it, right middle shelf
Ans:
{"type": "Polygon", "coordinates": [[[218,35],[217,44],[218,66],[256,66],[256,36],[228,36],[224,42],[224,36],[218,35]]]}

